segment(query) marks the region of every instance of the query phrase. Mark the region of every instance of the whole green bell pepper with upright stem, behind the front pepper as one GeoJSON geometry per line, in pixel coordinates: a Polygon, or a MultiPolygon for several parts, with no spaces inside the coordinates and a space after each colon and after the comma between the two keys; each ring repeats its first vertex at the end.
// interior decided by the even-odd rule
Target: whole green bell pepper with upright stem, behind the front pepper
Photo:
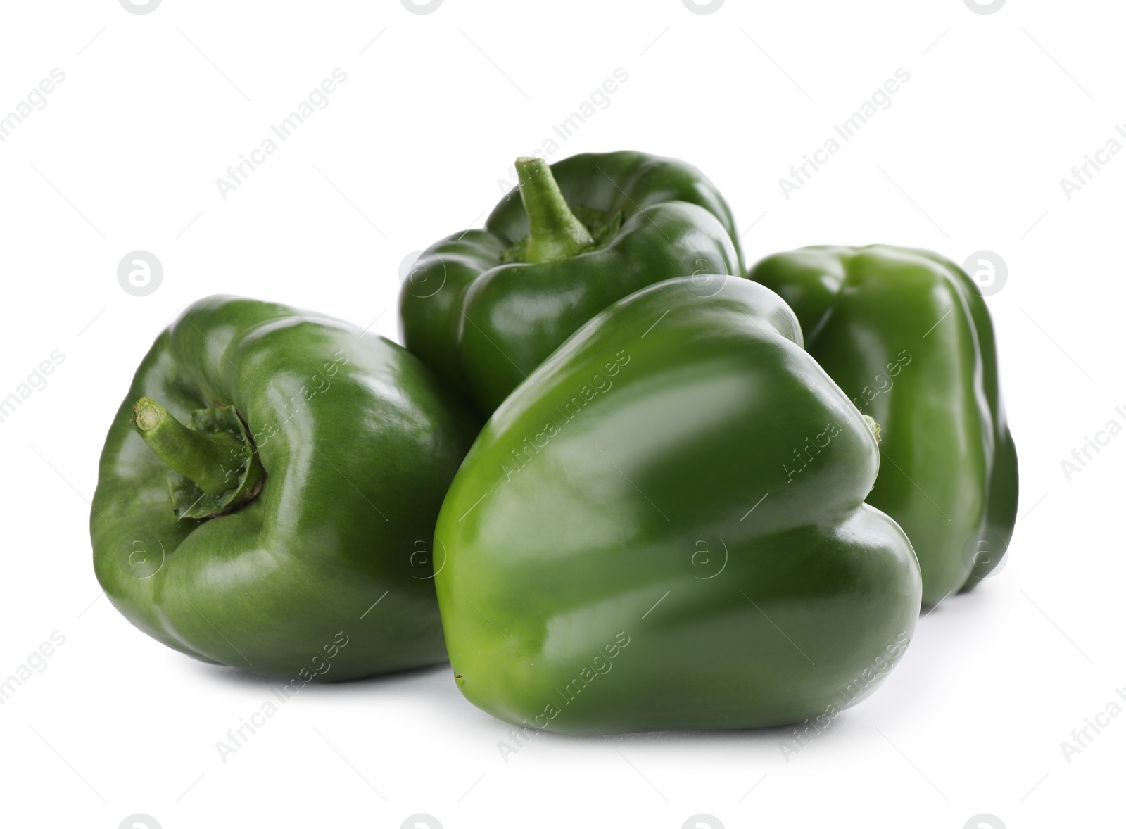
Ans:
{"type": "Polygon", "coordinates": [[[516,170],[519,198],[427,249],[400,294],[406,348],[485,417],[610,303],[674,276],[742,273],[731,210],[695,167],[613,152],[516,170]]]}

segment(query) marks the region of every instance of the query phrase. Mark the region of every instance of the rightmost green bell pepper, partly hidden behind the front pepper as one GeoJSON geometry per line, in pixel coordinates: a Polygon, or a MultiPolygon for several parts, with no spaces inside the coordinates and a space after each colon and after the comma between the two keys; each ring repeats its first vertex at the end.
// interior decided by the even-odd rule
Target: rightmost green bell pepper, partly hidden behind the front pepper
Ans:
{"type": "Polygon", "coordinates": [[[749,276],[789,303],[810,354],[883,427],[868,503],[911,538],[923,604],[974,587],[1008,549],[1018,483],[973,280],[937,253],[888,246],[803,248],[749,276]]]}

